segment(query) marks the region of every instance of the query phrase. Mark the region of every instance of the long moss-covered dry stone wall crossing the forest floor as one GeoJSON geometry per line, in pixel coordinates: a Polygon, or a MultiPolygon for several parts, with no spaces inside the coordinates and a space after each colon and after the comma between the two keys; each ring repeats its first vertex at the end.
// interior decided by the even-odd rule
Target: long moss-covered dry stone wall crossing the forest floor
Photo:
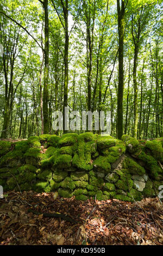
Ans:
{"type": "Polygon", "coordinates": [[[163,185],[162,143],[90,132],[0,141],[0,185],[4,191],[58,191],[77,200],[153,197],[163,185]]]}

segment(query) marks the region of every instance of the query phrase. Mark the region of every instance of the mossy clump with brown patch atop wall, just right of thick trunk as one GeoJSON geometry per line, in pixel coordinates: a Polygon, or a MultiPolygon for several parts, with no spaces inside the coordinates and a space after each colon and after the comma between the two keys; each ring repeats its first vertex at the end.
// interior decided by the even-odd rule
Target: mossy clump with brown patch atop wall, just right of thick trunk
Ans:
{"type": "Polygon", "coordinates": [[[139,141],[133,137],[123,135],[122,141],[126,143],[127,151],[131,154],[135,153],[139,149],[139,141]]]}

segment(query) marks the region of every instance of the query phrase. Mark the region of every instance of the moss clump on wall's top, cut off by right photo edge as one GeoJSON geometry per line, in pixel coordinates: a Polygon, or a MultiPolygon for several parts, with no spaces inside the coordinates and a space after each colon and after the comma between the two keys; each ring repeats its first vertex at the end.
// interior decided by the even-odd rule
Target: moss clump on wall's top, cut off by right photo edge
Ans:
{"type": "Polygon", "coordinates": [[[156,139],[147,141],[145,147],[151,150],[151,154],[155,159],[163,162],[163,149],[160,141],[157,141],[156,139]]]}

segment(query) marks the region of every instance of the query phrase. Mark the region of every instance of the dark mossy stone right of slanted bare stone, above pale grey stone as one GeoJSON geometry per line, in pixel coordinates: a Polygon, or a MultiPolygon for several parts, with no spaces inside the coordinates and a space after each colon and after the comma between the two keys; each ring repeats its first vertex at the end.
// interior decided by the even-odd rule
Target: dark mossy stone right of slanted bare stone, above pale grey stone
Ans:
{"type": "Polygon", "coordinates": [[[123,161],[123,168],[127,169],[131,174],[143,175],[146,173],[145,168],[140,166],[139,163],[135,162],[130,157],[126,157],[126,159],[123,161]]]}

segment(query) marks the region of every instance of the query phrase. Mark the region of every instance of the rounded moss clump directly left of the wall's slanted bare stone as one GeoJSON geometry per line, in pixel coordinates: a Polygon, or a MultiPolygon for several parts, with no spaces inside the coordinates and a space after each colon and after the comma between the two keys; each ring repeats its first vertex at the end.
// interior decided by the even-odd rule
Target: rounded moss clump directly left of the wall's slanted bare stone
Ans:
{"type": "Polygon", "coordinates": [[[98,172],[103,172],[105,174],[109,173],[111,170],[108,157],[105,156],[98,156],[97,159],[93,161],[93,166],[98,170],[98,172]]]}

